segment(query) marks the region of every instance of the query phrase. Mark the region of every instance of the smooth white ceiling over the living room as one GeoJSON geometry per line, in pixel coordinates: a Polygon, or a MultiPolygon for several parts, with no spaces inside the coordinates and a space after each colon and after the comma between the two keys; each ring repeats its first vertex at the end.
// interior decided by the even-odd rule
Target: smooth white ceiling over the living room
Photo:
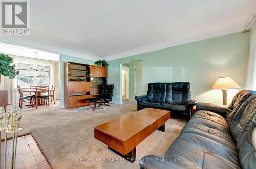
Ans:
{"type": "Polygon", "coordinates": [[[242,31],[256,1],[33,0],[30,5],[30,36],[18,38],[111,60],[242,31]]]}

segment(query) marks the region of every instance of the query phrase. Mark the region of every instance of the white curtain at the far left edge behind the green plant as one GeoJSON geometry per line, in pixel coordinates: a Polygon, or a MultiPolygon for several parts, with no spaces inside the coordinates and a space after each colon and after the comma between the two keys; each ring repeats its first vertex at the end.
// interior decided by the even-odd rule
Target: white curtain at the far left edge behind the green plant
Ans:
{"type": "MultiPolygon", "coordinates": [[[[7,54],[12,57],[15,62],[16,56],[7,54]]],[[[4,75],[1,75],[0,90],[8,90],[8,104],[16,104],[18,100],[18,90],[15,87],[15,79],[9,79],[4,75]]]]}

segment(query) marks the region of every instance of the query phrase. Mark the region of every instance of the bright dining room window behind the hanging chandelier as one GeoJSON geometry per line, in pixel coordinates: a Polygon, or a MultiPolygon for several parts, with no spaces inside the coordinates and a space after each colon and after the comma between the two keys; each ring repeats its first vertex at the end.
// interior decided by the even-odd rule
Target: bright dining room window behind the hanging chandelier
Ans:
{"type": "Polygon", "coordinates": [[[32,71],[32,64],[17,63],[19,75],[17,85],[28,88],[30,85],[50,85],[50,66],[39,66],[42,71],[32,71]]]}

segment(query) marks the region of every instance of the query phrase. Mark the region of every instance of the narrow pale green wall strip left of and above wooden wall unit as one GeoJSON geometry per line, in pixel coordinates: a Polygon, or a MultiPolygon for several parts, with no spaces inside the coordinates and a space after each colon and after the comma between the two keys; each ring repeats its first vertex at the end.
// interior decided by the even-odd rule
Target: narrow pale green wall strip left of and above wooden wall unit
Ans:
{"type": "Polygon", "coordinates": [[[64,63],[65,62],[75,62],[94,65],[93,60],[82,59],[68,55],[59,55],[59,64],[60,64],[60,108],[64,108],[64,63]]]}

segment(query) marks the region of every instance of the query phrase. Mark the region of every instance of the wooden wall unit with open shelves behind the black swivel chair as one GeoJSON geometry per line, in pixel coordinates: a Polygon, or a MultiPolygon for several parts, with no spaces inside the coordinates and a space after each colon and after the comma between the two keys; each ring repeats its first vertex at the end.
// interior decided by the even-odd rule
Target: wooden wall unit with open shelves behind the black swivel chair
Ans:
{"type": "Polygon", "coordinates": [[[103,83],[106,83],[106,67],[65,62],[65,108],[90,105],[91,103],[84,102],[84,99],[98,96],[99,90],[97,85],[103,83]]]}

